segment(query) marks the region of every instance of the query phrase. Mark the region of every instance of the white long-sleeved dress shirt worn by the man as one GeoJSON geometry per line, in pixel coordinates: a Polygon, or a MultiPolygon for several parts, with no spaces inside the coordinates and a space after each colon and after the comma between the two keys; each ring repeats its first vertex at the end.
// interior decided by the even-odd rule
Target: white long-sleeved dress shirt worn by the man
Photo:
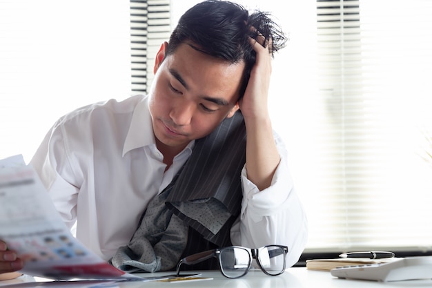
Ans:
{"type": "MultiPolygon", "coordinates": [[[[288,267],[306,244],[307,220],[293,188],[286,149],[275,134],[281,162],[271,186],[259,191],[242,171],[242,212],[231,228],[234,245],[288,246],[288,267]]],[[[108,260],[126,245],[148,202],[186,162],[190,142],[165,171],[157,150],[148,97],[136,95],[79,108],[50,129],[30,164],[63,220],[86,247],[108,260]]]]}

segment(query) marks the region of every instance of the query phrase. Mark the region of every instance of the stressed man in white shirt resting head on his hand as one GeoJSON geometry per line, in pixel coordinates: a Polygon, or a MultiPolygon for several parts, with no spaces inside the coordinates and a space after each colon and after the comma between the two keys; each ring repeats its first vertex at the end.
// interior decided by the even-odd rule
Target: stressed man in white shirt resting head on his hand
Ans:
{"type": "MultiPolygon", "coordinates": [[[[148,97],[92,104],[59,119],[32,165],[66,224],[71,228],[77,224],[81,242],[106,260],[117,255],[119,247],[136,253],[128,243],[137,227],[146,230],[144,222],[156,225],[156,218],[147,221],[150,216],[143,215],[149,205],[153,207],[190,166],[195,171],[192,177],[211,177],[199,175],[198,164],[192,160],[206,159],[211,153],[219,159],[233,149],[213,151],[210,145],[213,150],[208,155],[206,147],[199,155],[197,149],[203,140],[213,139],[209,137],[219,140],[219,129],[227,121],[244,119],[239,127],[246,128],[246,160],[240,162],[238,177],[225,174],[223,179],[241,181],[241,205],[226,209],[229,203],[223,200],[222,205],[209,205],[211,213],[225,215],[215,232],[204,235],[194,228],[196,222],[208,219],[194,218],[193,224],[185,224],[190,218],[175,206],[177,202],[163,200],[159,206],[168,215],[165,224],[174,219],[171,215],[178,215],[181,228],[175,233],[185,233],[176,240],[179,245],[175,247],[184,250],[174,249],[175,259],[196,252],[197,247],[284,244],[289,250],[287,265],[297,262],[306,243],[307,221],[289,175],[284,145],[273,133],[267,108],[271,59],[286,41],[278,29],[264,12],[249,15],[242,6],[228,1],[199,3],[181,17],[169,43],[159,48],[148,97]],[[190,244],[193,242],[197,245],[190,244]]],[[[230,137],[222,140],[229,141],[230,137]]],[[[238,146],[242,151],[242,144],[238,146]]],[[[230,169],[218,160],[204,166],[215,173],[230,169]]],[[[231,188],[228,185],[227,193],[235,193],[231,188]]],[[[174,190],[168,198],[178,193],[187,197],[189,190],[174,190]]],[[[213,224],[210,220],[211,227],[202,231],[213,229],[213,224]]],[[[138,231],[135,236],[139,241],[144,237],[138,231]]],[[[19,270],[21,260],[2,244],[0,273],[19,270]]],[[[150,243],[148,247],[157,254],[156,246],[150,243]]]]}

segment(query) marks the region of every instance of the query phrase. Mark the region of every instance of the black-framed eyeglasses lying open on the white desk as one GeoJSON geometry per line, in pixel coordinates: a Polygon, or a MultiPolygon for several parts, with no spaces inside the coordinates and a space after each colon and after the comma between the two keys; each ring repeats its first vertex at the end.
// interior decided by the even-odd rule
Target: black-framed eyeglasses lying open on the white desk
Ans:
{"type": "Polygon", "coordinates": [[[212,257],[219,261],[219,268],[227,278],[239,278],[252,266],[252,260],[257,260],[259,268],[269,276],[277,276],[285,271],[286,253],[288,247],[282,245],[268,245],[258,249],[230,246],[222,249],[208,250],[187,256],[177,264],[177,276],[180,275],[181,264],[193,265],[212,257]]]}

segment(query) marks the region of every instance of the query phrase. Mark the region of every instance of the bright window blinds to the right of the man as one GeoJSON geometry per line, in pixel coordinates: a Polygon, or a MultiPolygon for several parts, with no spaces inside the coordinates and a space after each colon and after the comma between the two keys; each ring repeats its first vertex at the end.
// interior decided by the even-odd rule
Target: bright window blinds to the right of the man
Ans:
{"type": "Polygon", "coordinates": [[[432,2],[318,0],[306,251],[432,245],[432,2]]]}

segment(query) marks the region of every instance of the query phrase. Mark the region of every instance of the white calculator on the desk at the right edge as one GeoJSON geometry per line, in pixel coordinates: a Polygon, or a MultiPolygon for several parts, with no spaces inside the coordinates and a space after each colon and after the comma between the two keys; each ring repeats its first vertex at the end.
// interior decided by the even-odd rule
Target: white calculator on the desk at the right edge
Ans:
{"type": "MultiPolygon", "coordinates": [[[[432,256],[397,258],[379,264],[364,264],[331,269],[338,278],[400,281],[432,279],[432,256]]],[[[431,283],[432,284],[432,283],[431,283]]]]}

